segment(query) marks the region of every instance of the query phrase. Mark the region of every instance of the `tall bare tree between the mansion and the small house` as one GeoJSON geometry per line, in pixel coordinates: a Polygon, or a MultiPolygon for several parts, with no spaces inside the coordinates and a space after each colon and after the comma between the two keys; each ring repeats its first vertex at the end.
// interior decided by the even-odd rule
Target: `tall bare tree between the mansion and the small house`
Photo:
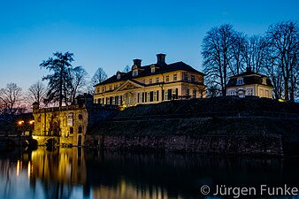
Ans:
{"type": "MultiPolygon", "coordinates": [[[[226,24],[213,27],[203,39],[203,67],[207,85],[213,93],[226,96],[226,83],[232,73],[233,46],[235,41],[233,26],[226,24]]],[[[209,92],[209,88],[208,88],[209,92]]]]}

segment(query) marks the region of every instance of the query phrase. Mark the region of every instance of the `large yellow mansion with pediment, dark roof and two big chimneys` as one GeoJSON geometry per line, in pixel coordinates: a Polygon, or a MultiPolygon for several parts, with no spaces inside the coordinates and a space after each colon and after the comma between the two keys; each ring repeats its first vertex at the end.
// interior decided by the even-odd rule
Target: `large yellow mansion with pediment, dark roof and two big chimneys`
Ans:
{"type": "Polygon", "coordinates": [[[203,98],[204,88],[203,73],[183,62],[166,64],[165,54],[157,54],[156,64],[142,66],[141,59],[134,59],[130,72],[96,84],[94,103],[131,106],[203,98]]]}

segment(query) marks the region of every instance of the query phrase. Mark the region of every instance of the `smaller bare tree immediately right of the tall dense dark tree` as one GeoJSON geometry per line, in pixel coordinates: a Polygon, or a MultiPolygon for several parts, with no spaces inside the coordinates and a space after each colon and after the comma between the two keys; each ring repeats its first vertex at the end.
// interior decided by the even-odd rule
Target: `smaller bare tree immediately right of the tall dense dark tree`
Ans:
{"type": "Polygon", "coordinates": [[[88,78],[88,73],[82,66],[74,67],[72,70],[72,88],[71,88],[71,102],[73,99],[82,93],[82,89],[86,87],[86,79],[88,78]]]}

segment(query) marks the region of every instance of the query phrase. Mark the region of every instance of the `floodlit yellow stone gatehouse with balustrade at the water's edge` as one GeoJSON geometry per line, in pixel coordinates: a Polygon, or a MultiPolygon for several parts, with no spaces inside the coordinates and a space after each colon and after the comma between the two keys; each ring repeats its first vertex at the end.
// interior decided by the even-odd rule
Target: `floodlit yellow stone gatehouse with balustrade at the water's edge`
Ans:
{"type": "Polygon", "coordinates": [[[33,115],[35,117],[34,139],[39,145],[75,145],[84,143],[88,126],[108,116],[106,108],[93,103],[93,96],[85,94],[77,97],[69,106],[39,109],[34,103],[33,115]]]}

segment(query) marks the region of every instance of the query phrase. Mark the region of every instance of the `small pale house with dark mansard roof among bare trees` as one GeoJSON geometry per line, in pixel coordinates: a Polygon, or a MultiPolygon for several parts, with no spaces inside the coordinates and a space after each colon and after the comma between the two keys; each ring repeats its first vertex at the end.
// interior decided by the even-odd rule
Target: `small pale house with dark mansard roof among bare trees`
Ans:
{"type": "Polygon", "coordinates": [[[226,85],[226,96],[259,96],[272,98],[272,82],[269,77],[254,73],[248,67],[245,73],[230,77],[226,85]]]}

